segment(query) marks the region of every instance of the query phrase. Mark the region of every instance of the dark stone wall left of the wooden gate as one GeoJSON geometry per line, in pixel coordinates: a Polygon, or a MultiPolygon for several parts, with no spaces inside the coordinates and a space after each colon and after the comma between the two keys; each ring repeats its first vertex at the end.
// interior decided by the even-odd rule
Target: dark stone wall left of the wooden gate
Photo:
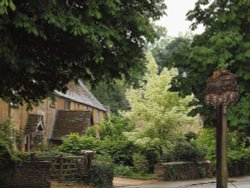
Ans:
{"type": "Polygon", "coordinates": [[[49,188],[51,163],[48,161],[25,162],[10,169],[5,185],[1,188],[49,188]]]}

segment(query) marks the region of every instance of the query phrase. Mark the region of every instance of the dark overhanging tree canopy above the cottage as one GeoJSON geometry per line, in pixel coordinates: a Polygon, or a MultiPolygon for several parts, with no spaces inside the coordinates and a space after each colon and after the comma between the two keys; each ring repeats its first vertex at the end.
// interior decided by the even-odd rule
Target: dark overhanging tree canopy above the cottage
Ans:
{"type": "Polygon", "coordinates": [[[38,102],[71,80],[143,70],[143,47],[163,0],[1,1],[0,98],[38,102]]]}

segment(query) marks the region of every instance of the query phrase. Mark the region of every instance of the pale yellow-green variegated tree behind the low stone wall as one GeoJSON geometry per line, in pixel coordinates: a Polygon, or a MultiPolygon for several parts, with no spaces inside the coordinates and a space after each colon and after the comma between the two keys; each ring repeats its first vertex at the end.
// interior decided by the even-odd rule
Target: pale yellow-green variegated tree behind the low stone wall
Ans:
{"type": "Polygon", "coordinates": [[[181,98],[177,92],[168,91],[177,71],[164,69],[158,75],[153,56],[146,57],[148,71],[140,88],[130,89],[126,94],[131,110],[124,115],[138,127],[126,135],[139,146],[157,148],[162,153],[174,144],[184,125],[195,124],[197,119],[187,116],[193,96],[181,98]]]}

